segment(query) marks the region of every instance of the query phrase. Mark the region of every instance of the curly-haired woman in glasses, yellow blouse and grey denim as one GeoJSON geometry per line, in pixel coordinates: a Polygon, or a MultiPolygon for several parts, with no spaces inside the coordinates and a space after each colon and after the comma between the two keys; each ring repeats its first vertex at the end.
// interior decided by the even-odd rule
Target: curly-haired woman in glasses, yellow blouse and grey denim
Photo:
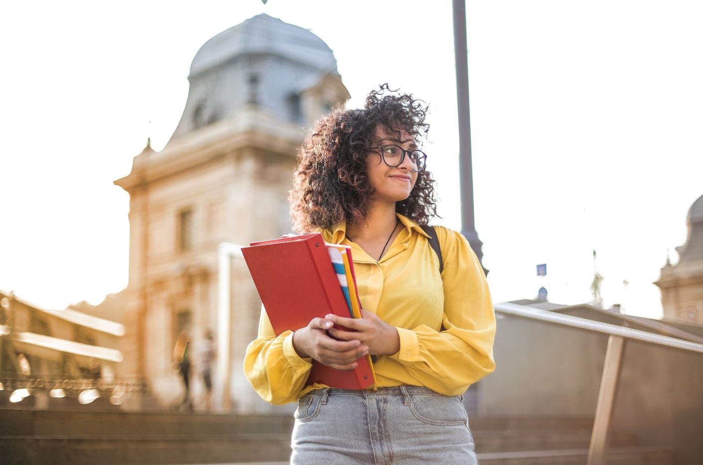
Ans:
{"type": "Polygon", "coordinates": [[[297,400],[291,464],[476,463],[460,395],[495,367],[493,306],[467,240],[442,227],[439,273],[419,227],[436,213],[418,150],[427,107],[394,92],[385,84],[363,110],[335,110],[299,152],[295,228],[352,247],[363,318],[326,315],[276,337],[262,312],[245,372],[264,400],[297,400]],[[312,359],[353,369],[367,354],[373,388],[307,384],[312,359]]]}

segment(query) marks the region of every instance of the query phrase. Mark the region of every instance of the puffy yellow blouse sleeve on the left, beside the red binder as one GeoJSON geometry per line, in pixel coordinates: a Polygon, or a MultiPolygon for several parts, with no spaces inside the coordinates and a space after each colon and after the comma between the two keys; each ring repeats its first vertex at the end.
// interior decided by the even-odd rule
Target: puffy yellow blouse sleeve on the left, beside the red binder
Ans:
{"type": "Polygon", "coordinates": [[[254,391],[271,404],[295,402],[311,367],[311,358],[300,358],[295,352],[293,332],[276,336],[262,308],[259,334],[247,346],[244,358],[244,373],[254,391]]]}

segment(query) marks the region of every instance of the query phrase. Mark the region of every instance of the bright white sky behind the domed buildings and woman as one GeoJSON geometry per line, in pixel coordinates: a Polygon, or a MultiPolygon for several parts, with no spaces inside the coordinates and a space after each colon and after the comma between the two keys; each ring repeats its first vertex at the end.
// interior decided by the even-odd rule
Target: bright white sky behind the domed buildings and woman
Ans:
{"type": "MultiPolygon", "coordinates": [[[[333,49],[349,106],[383,82],[430,103],[436,223],[460,229],[449,0],[5,2],[0,289],[63,308],[126,287],[129,196],[112,181],[148,136],[167,143],[198,48],[259,13],[333,49]]],[[[605,303],[659,315],[652,282],[703,194],[703,2],[468,1],[467,24],[494,300],[544,285],[590,301],[596,249],[605,303]]]]}

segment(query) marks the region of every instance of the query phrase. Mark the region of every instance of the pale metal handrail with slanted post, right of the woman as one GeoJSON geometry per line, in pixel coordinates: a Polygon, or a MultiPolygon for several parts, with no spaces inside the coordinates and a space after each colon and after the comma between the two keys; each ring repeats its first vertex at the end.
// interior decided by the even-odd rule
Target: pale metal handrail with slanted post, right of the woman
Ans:
{"type": "Polygon", "coordinates": [[[611,325],[586,318],[562,315],[549,310],[517,305],[515,303],[496,303],[496,313],[512,317],[537,320],[562,327],[582,329],[608,335],[608,346],[605,352],[605,365],[603,366],[598,391],[598,403],[595,407],[595,419],[591,432],[591,444],[588,447],[588,465],[604,465],[607,449],[608,432],[617,394],[618,381],[622,365],[622,355],[625,342],[628,339],[669,347],[682,351],[703,353],[703,344],[683,341],[670,336],[652,334],[639,329],[631,329],[618,325],[611,325]]]}

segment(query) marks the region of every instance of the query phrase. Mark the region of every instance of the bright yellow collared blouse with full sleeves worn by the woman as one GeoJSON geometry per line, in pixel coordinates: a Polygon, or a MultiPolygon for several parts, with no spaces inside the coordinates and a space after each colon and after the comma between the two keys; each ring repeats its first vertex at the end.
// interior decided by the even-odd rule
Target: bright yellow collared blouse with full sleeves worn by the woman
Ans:
{"type": "MultiPolygon", "coordinates": [[[[492,372],[496,333],[491,294],[483,269],[460,233],[436,226],[444,258],[439,260],[425,232],[405,216],[404,228],[380,259],[345,237],[345,225],[321,231],[326,242],[352,247],[359,299],[364,310],[398,329],[400,351],[373,364],[376,388],[409,384],[444,395],[464,393],[492,372]]],[[[310,358],[300,358],[292,331],[276,337],[262,310],[257,339],[247,347],[244,371],[267,402],[284,404],[319,384],[305,386],[310,358]]]]}

